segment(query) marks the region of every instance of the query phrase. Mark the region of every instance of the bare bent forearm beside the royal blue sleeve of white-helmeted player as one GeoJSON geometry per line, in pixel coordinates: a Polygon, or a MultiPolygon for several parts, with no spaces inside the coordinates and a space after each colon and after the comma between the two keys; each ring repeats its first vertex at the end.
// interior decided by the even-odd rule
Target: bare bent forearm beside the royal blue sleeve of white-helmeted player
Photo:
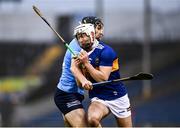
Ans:
{"type": "Polygon", "coordinates": [[[87,71],[91,75],[91,77],[97,81],[105,81],[108,80],[109,76],[107,76],[105,73],[101,72],[100,70],[95,69],[90,63],[85,63],[84,64],[87,71]]]}

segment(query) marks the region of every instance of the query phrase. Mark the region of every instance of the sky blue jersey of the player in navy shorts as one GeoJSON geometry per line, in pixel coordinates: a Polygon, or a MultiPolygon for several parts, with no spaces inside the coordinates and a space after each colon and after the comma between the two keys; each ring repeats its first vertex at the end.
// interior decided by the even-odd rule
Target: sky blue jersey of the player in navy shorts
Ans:
{"type": "MultiPolygon", "coordinates": [[[[69,46],[72,48],[72,50],[75,53],[79,53],[81,51],[81,47],[79,46],[76,39],[73,39],[70,42],[69,46]]],[[[63,64],[62,64],[62,74],[59,79],[59,83],[58,83],[57,87],[65,92],[80,93],[83,95],[84,90],[76,84],[75,77],[73,76],[73,74],[70,70],[71,58],[72,58],[72,54],[70,53],[69,50],[66,50],[63,64]]]]}

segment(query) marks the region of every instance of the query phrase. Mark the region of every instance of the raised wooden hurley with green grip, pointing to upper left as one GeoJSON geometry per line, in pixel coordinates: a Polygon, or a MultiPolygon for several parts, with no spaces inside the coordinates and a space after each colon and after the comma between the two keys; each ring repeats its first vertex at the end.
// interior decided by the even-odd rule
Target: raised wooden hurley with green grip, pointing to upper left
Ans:
{"type": "Polygon", "coordinates": [[[44,16],[42,15],[42,13],[40,12],[40,10],[33,5],[33,10],[36,12],[36,14],[38,16],[41,17],[41,19],[43,19],[43,21],[51,28],[51,30],[53,30],[53,32],[58,36],[58,38],[64,43],[64,45],[66,46],[66,48],[73,54],[73,56],[76,56],[76,54],[73,52],[73,50],[69,47],[69,45],[65,42],[65,40],[56,32],[56,30],[49,24],[49,22],[44,18],[44,16]]]}

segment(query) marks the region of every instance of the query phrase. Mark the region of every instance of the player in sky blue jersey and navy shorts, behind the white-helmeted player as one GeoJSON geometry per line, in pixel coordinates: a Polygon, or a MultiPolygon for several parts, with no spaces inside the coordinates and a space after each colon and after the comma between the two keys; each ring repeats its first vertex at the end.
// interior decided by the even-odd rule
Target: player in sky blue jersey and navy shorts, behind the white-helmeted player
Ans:
{"type": "MultiPolygon", "coordinates": [[[[91,23],[90,26],[93,24],[94,26],[92,29],[95,27],[96,39],[100,40],[102,38],[103,30],[101,28],[103,23],[99,18],[93,16],[84,17],[81,23],[91,23]]],[[[76,38],[70,42],[69,46],[75,53],[80,52],[82,49],[76,38]]],[[[65,125],[72,127],[86,127],[87,121],[82,106],[84,89],[76,84],[76,80],[70,70],[71,60],[72,54],[67,50],[64,56],[62,74],[57,85],[54,100],[59,110],[63,113],[65,125]]],[[[84,87],[90,89],[90,81],[86,78],[84,80],[84,87]]]]}

